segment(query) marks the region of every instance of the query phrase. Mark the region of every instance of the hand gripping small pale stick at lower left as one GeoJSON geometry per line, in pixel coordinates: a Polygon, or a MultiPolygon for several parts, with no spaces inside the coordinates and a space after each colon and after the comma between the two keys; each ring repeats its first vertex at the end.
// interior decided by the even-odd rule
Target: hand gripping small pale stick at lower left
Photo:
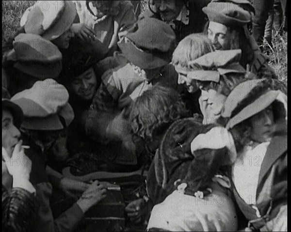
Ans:
{"type": "Polygon", "coordinates": [[[100,184],[98,181],[95,181],[87,188],[85,192],[83,192],[81,198],[77,201],[77,204],[85,213],[93,205],[105,198],[106,192],[106,186],[100,184]]]}

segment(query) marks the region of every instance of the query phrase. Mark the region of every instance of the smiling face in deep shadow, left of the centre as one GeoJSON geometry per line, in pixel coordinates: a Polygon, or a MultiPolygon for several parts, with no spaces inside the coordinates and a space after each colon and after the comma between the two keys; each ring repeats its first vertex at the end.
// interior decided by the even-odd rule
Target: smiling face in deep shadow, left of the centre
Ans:
{"type": "Polygon", "coordinates": [[[71,90],[84,100],[91,100],[96,93],[97,78],[93,68],[76,77],[70,83],[71,90]]]}

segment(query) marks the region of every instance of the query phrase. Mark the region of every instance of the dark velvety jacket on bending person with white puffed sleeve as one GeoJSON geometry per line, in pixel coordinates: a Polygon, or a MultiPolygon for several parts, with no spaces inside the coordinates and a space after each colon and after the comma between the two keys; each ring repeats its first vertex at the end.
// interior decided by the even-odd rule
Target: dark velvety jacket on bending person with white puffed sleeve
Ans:
{"type": "Polygon", "coordinates": [[[161,203],[177,189],[175,182],[186,183],[185,194],[194,196],[206,189],[226,160],[225,149],[203,149],[191,153],[191,142],[213,125],[203,125],[194,118],[181,119],[166,131],[148,171],[147,191],[154,204],[161,203]],[[178,181],[180,179],[180,181],[178,181]]]}

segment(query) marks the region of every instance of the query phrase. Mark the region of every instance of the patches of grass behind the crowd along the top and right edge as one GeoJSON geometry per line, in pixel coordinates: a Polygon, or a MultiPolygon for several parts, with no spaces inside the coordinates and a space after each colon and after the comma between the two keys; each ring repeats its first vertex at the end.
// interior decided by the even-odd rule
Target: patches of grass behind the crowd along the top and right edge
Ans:
{"type": "MultiPolygon", "coordinates": [[[[2,1],[2,45],[19,27],[21,15],[35,1],[2,1]]],[[[141,0],[141,11],[144,11],[146,0],[141,0]]],[[[287,32],[282,35],[273,33],[273,48],[269,46],[269,65],[274,68],[280,80],[287,85],[287,32]]]]}

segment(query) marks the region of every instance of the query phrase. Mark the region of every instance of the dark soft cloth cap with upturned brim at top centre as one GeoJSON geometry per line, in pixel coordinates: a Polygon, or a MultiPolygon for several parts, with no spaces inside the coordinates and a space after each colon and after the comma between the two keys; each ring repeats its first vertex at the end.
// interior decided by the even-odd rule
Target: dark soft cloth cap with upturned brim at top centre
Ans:
{"type": "Polygon", "coordinates": [[[156,18],[144,18],[118,46],[126,58],[142,69],[162,67],[172,59],[176,36],[171,26],[156,18]]]}

